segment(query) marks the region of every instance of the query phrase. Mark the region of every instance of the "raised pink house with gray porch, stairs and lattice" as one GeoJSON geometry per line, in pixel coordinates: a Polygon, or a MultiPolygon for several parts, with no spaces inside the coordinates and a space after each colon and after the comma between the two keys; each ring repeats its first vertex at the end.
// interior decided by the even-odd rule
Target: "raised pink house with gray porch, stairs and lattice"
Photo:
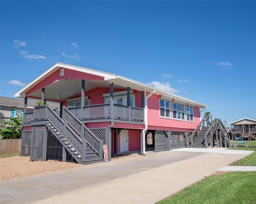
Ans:
{"type": "Polygon", "coordinates": [[[103,161],[102,145],[112,154],[147,148],[186,147],[200,124],[204,104],[129,78],[56,63],[15,97],[24,98],[21,154],[31,160],[103,161]],[[26,109],[27,99],[46,102],[26,109]],[[60,104],[53,110],[47,102],[60,104]]]}

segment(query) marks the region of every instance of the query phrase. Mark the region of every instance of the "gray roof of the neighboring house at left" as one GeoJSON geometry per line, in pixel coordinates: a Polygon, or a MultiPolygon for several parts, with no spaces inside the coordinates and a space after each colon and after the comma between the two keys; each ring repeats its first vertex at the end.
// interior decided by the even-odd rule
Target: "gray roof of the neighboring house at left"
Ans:
{"type": "MultiPolygon", "coordinates": [[[[36,100],[28,100],[27,108],[33,108],[36,106],[36,100]]],[[[47,102],[48,103],[48,102],[47,102]]],[[[52,108],[59,108],[60,104],[57,103],[48,103],[52,108]]],[[[23,108],[24,107],[24,99],[21,98],[8,98],[0,96],[0,106],[8,106],[8,107],[16,107],[23,108]]]]}

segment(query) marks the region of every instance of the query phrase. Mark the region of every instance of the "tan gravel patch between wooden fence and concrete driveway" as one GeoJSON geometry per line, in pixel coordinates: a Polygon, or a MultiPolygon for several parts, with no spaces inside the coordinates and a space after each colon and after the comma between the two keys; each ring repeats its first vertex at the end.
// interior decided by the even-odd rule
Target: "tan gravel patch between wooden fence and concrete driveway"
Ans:
{"type": "Polygon", "coordinates": [[[29,161],[30,157],[3,157],[0,158],[0,180],[24,177],[33,174],[58,171],[82,167],[74,162],[61,162],[57,160],[29,161]]]}

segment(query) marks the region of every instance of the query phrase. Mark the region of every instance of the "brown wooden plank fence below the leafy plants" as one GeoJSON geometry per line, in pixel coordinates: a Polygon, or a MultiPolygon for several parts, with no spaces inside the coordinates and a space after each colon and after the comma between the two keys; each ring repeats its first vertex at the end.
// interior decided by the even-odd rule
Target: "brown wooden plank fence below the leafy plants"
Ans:
{"type": "Polygon", "coordinates": [[[0,139],[0,155],[20,154],[21,139],[0,139]]]}

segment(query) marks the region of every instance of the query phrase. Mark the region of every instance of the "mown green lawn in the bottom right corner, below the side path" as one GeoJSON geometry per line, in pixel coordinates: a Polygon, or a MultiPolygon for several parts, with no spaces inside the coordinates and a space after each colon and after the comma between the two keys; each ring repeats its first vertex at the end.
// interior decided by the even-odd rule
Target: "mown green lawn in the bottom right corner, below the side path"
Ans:
{"type": "Polygon", "coordinates": [[[256,171],[212,176],[157,204],[255,204],[255,180],[256,171]]]}

